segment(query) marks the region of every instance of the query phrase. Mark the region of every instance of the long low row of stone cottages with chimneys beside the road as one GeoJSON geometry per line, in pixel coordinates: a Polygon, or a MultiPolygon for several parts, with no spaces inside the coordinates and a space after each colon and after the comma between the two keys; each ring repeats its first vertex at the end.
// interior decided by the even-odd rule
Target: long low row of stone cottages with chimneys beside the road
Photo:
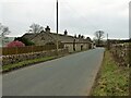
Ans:
{"type": "Polygon", "coordinates": [[[64,30],[63,35],[58,34],[57,36],[57,33],[50,33],[49,26],[47,26],[45,30],[41,30],[39,34],[27,33],[22,37],[29,39],[36,46],[44,46],[46,44],[56,44],[58,38],[59,45],[63,44],[63,47],[68,48],[69,52],[87,50],[92,48],[92,41],[90,37],[84,39],[82,38],[82,36],[79,37],[69,36],[67,30],[64,30]]]}

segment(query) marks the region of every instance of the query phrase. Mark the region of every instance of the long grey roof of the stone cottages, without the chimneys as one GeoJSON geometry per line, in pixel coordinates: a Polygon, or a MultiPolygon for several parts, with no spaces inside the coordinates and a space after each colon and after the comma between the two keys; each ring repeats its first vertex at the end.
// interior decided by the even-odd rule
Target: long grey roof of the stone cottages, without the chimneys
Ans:
{"type": "MultiPolygon", "coordinates": [[[[40,38],[44,37],[45,42],[46,41],[56,41],[57,40],[57,34],[56,33],[47,33],[47,32],[41,32],[39,34],[25,34],[23,35],[23,37],[29,39],[29,40],[35,40],[37,38],[37,40],[40,41],[40,38]]],[[[62,35],[62,34],[58,34],[58,40],[60,42],[73,42],[75,39],[75,42],[90,42],[90,40],[87,39],[83,39],[83,38],[74,38],[73,36],[69,36],[69,35],[62,35]]]]}

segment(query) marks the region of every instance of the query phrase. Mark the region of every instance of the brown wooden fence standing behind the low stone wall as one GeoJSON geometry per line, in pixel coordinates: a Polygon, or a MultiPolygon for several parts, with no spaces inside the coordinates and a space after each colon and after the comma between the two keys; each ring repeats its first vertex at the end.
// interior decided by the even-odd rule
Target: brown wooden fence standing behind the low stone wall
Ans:
{"type": "MultiPolygon", "coordinates": [[[[59,46],[59,49],[62,49],[63,45],[59,46]]],[[[3,47],[2,56],[9,54],[20,54],[20,53],[28,53],[28,52],[38,52],[38,51],[48,51],[56,49],[56,45],[46,45],[46,46],[26,46],[26,47],[3,47]]]]}

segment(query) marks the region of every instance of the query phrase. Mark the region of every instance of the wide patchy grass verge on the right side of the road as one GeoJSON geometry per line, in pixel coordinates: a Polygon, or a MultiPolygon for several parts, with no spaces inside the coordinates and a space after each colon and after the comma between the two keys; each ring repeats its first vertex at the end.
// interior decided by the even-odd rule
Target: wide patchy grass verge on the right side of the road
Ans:
{"type": "Polygon", "coordinates": [[[129,96],[129,68],[119,66],[109,51],[105,51],[91,96],[129,96]]]}

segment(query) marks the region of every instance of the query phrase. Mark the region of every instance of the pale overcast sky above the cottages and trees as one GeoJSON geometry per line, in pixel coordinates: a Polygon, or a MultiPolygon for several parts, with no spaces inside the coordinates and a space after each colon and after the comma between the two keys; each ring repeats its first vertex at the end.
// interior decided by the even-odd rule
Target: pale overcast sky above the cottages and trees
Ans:
{"type": "MultiPolygon", "coordinates": [[[[104,30],[109,38],[129,38],[130,0],[59,0],[59,32],[93,37],[104,30]]],[[[56,0],[1,0],[0,23],[10,36],[22,36],[33,23],[56,32],[56,0]]]]}

